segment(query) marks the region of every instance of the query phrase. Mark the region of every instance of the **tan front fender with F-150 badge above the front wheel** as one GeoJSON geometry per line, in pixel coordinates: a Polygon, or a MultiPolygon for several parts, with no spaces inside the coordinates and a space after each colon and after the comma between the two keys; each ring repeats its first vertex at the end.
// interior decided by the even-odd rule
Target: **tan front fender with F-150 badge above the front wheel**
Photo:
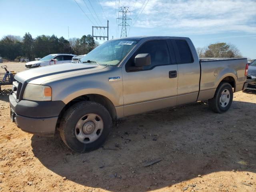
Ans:
{"type": "Polygon", "coordinates": [[[122,71],[112,68],[98,74],[62,78],[51,82],[48,85],[52,87],[52,100],[62,100],[67,104],[82,95],[98,94],[108,98],[115,107],[121,106],[124,104],[122,78],[111,82],[108,81],[111,76],[122,77],[122,71]]]}

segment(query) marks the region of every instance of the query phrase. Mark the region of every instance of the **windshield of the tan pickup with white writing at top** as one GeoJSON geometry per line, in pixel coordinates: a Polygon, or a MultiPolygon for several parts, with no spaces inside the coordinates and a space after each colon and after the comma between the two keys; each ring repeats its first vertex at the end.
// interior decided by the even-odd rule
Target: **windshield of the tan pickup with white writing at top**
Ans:
{"type": "Polygon", "coordinates": [[[139,40],[135,39],[106,41],[84,56],[81,62],[88,64],[97,63],[104,66],[117,66],[138,41],[139,40]]]}

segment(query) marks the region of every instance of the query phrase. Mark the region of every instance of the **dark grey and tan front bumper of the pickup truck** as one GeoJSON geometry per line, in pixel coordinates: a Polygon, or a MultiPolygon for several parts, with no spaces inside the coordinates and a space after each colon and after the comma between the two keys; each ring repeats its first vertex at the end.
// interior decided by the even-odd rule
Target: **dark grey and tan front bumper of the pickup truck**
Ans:
{"type": "Polygon", "coordinates": [[[41,136],[54,136],[58,116],[65,104],[62,101],[17,102],[12,94],[9,96],[10,114],[18,128],[41,136]]]}

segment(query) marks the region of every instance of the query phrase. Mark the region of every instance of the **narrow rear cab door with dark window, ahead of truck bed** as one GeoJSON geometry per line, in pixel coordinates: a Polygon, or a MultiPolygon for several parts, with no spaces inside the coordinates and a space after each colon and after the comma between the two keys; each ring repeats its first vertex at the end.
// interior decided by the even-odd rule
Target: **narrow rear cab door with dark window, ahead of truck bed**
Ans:
{"type": "Polygon", "coordinates": [[[200,63],[198,57],[193,58],[190,47],[195,52],[194,45],[186,39],[172,39],[171,42],[178,66],[177,105],[196,102],[200,83],[200,63]]]}

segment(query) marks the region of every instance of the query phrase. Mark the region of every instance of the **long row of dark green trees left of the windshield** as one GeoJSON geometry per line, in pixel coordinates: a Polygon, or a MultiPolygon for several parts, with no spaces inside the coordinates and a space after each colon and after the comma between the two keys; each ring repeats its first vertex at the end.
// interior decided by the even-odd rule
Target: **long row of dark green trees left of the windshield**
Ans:
{"type": "Polygon", "coordinates": [[[90,52],[98,44],[91,35],[70,40],[55,35],[40,35],[32,38],[30,33],[26,33],[23,37],[6,35],[0,40],[0,56],[7,60],[18,61],[21,57],[34,60],[54,53],[82,55],[90,52]]]}

